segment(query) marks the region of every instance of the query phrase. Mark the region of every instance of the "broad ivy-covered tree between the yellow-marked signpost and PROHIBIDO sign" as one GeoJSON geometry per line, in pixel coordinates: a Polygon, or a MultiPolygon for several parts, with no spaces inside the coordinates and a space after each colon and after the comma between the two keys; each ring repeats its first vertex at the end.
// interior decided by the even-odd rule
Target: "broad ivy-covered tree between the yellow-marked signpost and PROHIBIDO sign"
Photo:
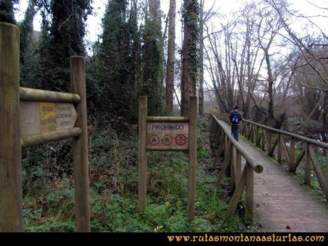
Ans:
{"type": "Polygon", "coordinates": [[[131,121],[135,104],[136,20],[127,17],[127,1],[108,2],[103,17],[103,34],[91,63],[91,87],[96,93],[94,106],[107,118],[131,121]]]}

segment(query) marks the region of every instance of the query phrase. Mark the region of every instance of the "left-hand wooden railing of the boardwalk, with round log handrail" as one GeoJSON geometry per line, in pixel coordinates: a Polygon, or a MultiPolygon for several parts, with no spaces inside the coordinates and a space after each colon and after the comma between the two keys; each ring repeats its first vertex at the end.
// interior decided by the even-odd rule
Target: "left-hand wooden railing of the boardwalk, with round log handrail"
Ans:
{"type": "Polygon", "coordinates": [[[245,188],[245,220],[252,221],[253,212],[253,183],[254,171],[262,173],[262,165],[258,165],[254,158],[242,148],[229,131],[225,130],[222,123],[210,114],[210,145],[216,156],[213,165],[216,165],[220,156],[223,155],[220,174],[217,178],[217,187],[221,185],[225,172],[228,171],[231,177],[232,198],[227,209],[227,213],[235,212],[237,204],[245,188]],[[242,169],[242,158],[246,164],[242,169]]]}

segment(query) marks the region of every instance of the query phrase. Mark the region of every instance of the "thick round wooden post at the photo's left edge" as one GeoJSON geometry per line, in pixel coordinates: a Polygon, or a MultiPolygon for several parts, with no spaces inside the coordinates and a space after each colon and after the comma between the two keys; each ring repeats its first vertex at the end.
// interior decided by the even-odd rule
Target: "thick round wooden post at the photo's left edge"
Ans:
{"type": "Polygon", "coordinates": [[[19,29],[0,23],[0,232],[23,230],[19,29]]]}

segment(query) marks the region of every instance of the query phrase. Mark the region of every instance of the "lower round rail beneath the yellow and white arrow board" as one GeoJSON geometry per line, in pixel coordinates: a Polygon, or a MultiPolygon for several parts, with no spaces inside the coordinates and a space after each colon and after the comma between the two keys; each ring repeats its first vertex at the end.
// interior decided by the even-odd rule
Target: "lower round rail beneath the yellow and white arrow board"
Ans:
{"type": "Polygon", "coordinates": [[[21,148],[29,148],[44,143],[50,143],[66,138],[75,138],[81,135],[81,128],[72,128],[69,130],[53,131],[50,133],[40,133],[35,135],[27,135],[21,138],[21,148]]]}

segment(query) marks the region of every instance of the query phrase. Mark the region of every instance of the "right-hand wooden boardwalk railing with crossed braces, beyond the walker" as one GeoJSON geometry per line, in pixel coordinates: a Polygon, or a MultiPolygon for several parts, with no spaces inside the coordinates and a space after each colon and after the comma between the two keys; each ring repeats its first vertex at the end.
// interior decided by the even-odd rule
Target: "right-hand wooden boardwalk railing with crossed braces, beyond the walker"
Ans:
{"type": "MultiPolygon", "coordinates": [[[[226,113],[217,114],[220,121],[229,123],[229,117],[226,113]]],[[[305,138],[302,135],[289,133],[285,130],[270,128],[253,121],[244,120],[240,124],[240,132],[257,147],[262,148],[267,155],[277,158],[278,163],[282,164],[282,157],[288,165],[289,172],[295,173],[299,163],[305,158],[304,165],[304,183],[311,185],[311,163],[313,165],[315,177],[322,192],[328,199],[328,144],[322,143],[311,138],[305,138]],[[296,156],[295,146],[299,148],[299,154],[296,156]],[[322,151],[325,158],[326,173],[319,165],[316,151],[322,151]]]]}

